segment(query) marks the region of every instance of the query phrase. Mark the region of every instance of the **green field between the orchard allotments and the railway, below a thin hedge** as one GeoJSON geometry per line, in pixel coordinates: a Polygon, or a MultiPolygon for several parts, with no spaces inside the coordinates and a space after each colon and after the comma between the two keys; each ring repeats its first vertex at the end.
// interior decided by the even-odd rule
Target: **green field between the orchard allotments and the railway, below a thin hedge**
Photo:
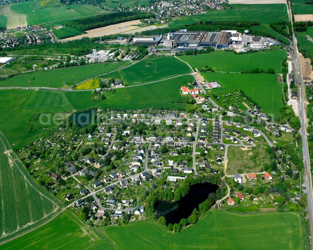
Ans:
{"type": "Polygon", "coordinates": [[[265,113],[273,114],[275,119],[280,117],[280,107],[283,104],[282,87],[281,83],[277,82],[276,74],[205,72],[201,75],[207,81],[218,81],[222,85],[222,88],[210,90],[211,96],[213,93],[225,91],[233,93],[236,89],[242,89],[261,106],[265,113]]]}

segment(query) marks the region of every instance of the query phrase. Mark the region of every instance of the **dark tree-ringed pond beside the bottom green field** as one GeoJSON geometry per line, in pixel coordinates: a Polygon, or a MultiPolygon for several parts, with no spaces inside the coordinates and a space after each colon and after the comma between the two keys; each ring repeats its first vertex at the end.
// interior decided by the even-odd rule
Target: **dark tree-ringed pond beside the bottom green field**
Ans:
{"type": "Polygon", "coordinates": [[[215,193],[217,188],[218,185],[208,182],[194,184],[188,194],[177,202],[158,201],[156,210],[165,217],[167,224],[178,223],[182,218],[188,218],[193,209],[198,208],[208,198],[209,193],[215,193]]]}

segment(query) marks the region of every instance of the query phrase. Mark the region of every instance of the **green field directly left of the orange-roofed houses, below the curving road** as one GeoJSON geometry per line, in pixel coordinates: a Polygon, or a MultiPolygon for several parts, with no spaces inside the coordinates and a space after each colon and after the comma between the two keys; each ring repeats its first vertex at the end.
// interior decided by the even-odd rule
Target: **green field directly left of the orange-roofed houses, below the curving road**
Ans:
{"type": "Polygon", "coordinates": [[[187,109],[192,105],[183,103],[180,87],[192,82],[190,75],[145,84],[131,88],[116,89],[112,94],[106,92],[106,99],[100,105],[101,109],[187,109]]]}

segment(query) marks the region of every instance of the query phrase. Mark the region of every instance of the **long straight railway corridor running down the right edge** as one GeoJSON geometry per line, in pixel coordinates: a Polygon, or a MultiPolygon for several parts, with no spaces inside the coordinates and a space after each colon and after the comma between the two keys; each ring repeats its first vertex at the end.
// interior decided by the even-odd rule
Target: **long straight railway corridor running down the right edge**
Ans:
{"type": "MultiPolygon", "coordinates": [[[[290,2],[288,2],[289,10],[290,2]]],[[[311,169],[310,169],[310,156],[309,156],[309,148],[306,137],[306,124],[305,124],[305,86],[302,81],[302,72],[300,66],[300,60],[298,57],[297,50],[297,39],[295,37],[294,29],[293,29],[293,21],[291,11],[289,13],[289,18],[291,22],[292,28],[292,41],[293,41],[293,51],[294,51],[294,71],[295,71],[295,82],[297,83],[298,93],[301,93],[300,98],[298,98],[298,109],[299,109],[299,118],[301,122],[301,137],[302,137],[302,151],[303,151],[303,163],[304,163],[304,180],[306,184],[307,190],[307,210],[310,221],[310,233],[313,235],[313,191],[312,191],[312,178],[311,178],[311,169]]],[[[310,237],[310,248],[313,249],[313,238],[310,237]]]]}

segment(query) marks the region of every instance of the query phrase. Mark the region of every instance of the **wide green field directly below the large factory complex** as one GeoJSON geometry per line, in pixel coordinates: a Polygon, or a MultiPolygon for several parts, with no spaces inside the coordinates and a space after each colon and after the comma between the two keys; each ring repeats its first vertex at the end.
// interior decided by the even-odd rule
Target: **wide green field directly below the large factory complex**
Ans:
{"type": "Polygon", "coordinates": [[[215,71],[241,72],[242,70],[251,70],[255,68],[275,69],[276,73],[281,73],[281,63],[287,56],[285,50],[269,50],[250,54],[235,55],[229,51],[214,51],[208,54],[198,54],[193,56],[180,56],[193,69],[208,65],[215,71]],[[250,59],[249,59],[250,57],[250,59]],[[225,63],[227,62],[227,63],[225,63]]]}

